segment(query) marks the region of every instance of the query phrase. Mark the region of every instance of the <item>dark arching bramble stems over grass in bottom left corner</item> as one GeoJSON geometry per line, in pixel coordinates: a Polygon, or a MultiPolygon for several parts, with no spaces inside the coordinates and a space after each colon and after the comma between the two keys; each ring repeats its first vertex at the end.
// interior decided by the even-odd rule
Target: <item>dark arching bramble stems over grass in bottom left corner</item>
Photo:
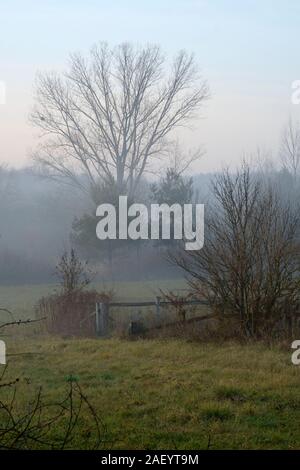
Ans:
{"type": "Polygon", "coordinates": [[[19,379],[0,380],[0,449],[99,449],[105,426],[79,383],[70,377],[61,401],[47,402],[40,387],[25,410],[18,407],[19,379]],[[4,390],[9,393],[1,393],[4,390]],[[4,396],[3,396],[4,395],[4,396]]]}

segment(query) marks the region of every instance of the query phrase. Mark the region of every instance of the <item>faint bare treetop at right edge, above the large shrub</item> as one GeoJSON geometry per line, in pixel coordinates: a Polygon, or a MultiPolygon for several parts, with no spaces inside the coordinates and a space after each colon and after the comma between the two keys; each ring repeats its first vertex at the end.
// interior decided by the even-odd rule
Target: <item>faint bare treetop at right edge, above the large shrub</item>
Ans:
{"type": "Polygon", "coordinates": [[[292,119],[282,135],[280,156],[284,168],[296,178],[300,165],[300,127],[294,124],[292,119]]]}

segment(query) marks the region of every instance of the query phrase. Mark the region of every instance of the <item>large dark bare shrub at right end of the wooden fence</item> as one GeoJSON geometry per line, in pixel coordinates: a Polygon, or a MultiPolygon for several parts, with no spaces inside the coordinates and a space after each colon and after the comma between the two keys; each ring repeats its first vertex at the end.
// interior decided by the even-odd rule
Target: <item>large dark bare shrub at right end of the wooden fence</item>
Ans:
{"type": "Polygon", "coordinates": [[[200,251],[174,255],[192,291],[244,337],[291,334],[299,312],[298,216],[251,174],[224,171],[213,183],[200,251]]]}

